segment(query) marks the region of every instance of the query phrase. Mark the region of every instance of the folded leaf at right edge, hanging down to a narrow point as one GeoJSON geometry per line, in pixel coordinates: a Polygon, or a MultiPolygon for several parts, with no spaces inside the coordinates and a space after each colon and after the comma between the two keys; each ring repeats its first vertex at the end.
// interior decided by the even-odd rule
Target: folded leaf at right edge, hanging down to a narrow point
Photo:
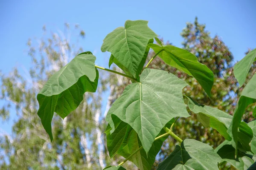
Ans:
{"type": "MultiPolygon", "coordinates": [[[[241,97],[239,99],[238,104],[236,105],[236,109],[234,111],[233,119],[230,127],[227,132],[233,138],[232,145],[236,148],[237,151],[237,142],[238,142],[238,127],[241,123],[242,116],[247,106],[256,102],[256,74],[250,79],[248,84],[245,86],[244,90],[241,93],[241,97]]],[[[237,152],[236,152],[237,153],[237,152]]]]}

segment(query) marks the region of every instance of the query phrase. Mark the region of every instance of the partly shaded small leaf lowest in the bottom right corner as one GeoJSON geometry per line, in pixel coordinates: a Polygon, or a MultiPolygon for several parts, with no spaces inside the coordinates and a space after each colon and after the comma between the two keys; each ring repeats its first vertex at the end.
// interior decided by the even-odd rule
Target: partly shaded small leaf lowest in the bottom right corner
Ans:
{"type": "Polygon", "coordinates": [[[238,151],[237,157],[235,157],[236,149],[231,145],[230,141],[222,142],[216,149],[215,152],[221,156],[221,162],[227,161],[232,164],[238,170],[246,170],[253,164],[253,159],[251,155],[238,151]]]}

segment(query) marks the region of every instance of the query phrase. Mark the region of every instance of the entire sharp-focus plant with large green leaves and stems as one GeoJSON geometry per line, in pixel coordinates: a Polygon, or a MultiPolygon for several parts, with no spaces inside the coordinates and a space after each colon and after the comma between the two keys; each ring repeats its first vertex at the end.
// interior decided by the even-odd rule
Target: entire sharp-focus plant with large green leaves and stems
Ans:
{"type": "MultiPolygon", "coordinates": [[[[51,141],[53,113],[65,118],[83,100],[85,92],[97,90],[98,69],[110,71],[131,79],[123,94],[116,99],[106,116],[105,130],[110,157],[123,156],[124,161],[105,170],[124,170],[126,161],[140,170],[150,170],[164,140],[172,136],[180,145],[159,166],[159,170],[195,169],[218,170],[221,162],[229,162],[237,169],[254,169],[256,164],[256,122],[248,124],[241,118],[248,105],[256,102],[256,76],[243,89],[233,116],[207,105],[198,104],[182,89],[187,83],[174,74],[147,68],[155,57],[166,64],[195,77],[209,98],[214,74],[198,62],[194,54],[173,45],[163,45],[157,34],[143,20],[127,20],[105,37],[102,52],[111,53],[109,66],[115,63],[125,74],[95,65],[90,52],[77,55],[49,78],[39,92],[38,116],[51,141]],[[155,42],[157,43],[154,43],[155,42]],[[155,55],[145,65],[148,52],[155,55]],[[144,67],[145,65],[145,67],[144,67]],[[187,107],[206,127],[217,130],[226,139],[215,150],[194,139],[180,139],[172,128],[179,117],[189,117],[187,107]]],[[[250,51],[234,66],[240,87],[244,84],[250,66],[256,59],[256,49],[250,51]]],[[[256,111],[253,113],[256,117],[256,111]]]]}

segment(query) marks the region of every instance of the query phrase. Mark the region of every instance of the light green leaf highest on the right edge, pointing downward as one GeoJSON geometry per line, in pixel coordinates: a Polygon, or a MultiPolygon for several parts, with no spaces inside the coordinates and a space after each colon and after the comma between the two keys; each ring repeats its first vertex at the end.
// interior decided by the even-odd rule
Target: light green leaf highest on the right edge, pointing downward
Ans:
{"type": "Polygon", "coordinates": [[[239,82],[239,87],[244,84],[247,74],[256,59],[256,48],[250,51],[241,61],[234,66],[234,74],[239,82]]]}

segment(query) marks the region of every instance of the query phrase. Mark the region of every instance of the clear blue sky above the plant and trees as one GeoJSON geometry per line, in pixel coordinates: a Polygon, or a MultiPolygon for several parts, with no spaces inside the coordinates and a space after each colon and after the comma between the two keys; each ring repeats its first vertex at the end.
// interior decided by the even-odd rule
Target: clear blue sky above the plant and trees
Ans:
{"type": "MultiPolygon", "coordinates": [[[[109,54],[101,53],[102,40],[125,20],[148,20],[156,34],[180,47],[180,32],[195,16],[212,36],[221,36],[235,60],[240,60],[247,48],[256,48],[255,6],[256,0],[0,0],[0,70],[29,68],[26,42],[41,37],[44,25],[55,32],[65,22],[79,23],[86,33],[81,45],[97,51],[96,63],[107,67],[109,54]]],[[[11,132],[12,119],[0,121],[0,128],[11,132]]]]}

